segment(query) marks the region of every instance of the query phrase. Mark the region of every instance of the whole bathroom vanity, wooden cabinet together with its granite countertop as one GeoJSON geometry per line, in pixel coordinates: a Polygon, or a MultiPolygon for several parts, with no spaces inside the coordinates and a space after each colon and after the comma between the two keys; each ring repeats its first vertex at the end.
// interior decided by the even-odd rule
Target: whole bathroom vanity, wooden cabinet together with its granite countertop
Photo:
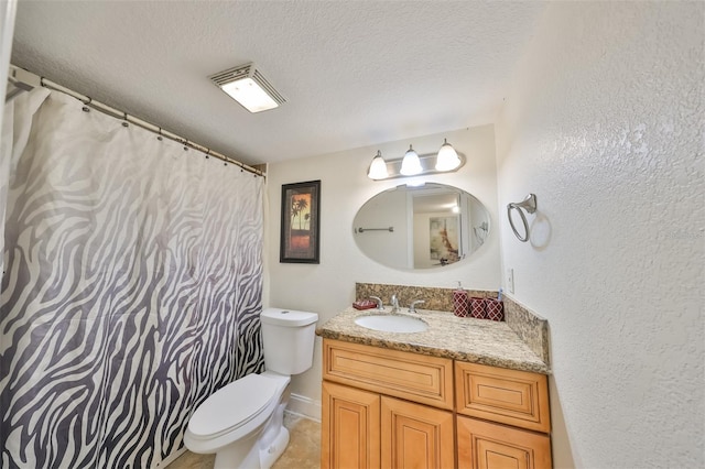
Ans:
{"type": "Polygon", "coordinates": [[[551,468],[547,366],[505,323],[420,312],[422,332],[322,325],[322,468],[551,468]]]}

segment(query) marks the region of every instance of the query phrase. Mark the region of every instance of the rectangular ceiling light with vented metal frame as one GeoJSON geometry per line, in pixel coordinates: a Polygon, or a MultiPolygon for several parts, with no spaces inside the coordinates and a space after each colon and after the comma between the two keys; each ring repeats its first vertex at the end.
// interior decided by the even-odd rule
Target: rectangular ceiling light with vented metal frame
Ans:
{"type": "Polygon", "coordinates": [[[250,112],[265,111],[286,102],[252,63],[217,73],[208,78],[250,112]]]}

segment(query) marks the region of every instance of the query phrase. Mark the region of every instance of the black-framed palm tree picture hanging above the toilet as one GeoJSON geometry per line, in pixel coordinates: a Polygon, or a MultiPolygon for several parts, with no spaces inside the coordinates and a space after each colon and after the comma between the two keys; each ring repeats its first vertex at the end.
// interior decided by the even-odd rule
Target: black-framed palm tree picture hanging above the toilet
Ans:
{"type": "Polygon", "coordinates": [[[318,264],[321,181],[282,184],[279,262],[318,264]]]}

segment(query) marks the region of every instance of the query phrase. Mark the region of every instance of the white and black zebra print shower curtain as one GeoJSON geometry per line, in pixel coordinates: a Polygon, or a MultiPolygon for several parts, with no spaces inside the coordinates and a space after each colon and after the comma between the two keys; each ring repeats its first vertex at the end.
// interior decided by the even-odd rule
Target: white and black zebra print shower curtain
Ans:
{"type": "Polygon", "coordinates": [[[82,108],[6,107],[2,468],[155,467],[263,366],[262,177],[82,108]]]}

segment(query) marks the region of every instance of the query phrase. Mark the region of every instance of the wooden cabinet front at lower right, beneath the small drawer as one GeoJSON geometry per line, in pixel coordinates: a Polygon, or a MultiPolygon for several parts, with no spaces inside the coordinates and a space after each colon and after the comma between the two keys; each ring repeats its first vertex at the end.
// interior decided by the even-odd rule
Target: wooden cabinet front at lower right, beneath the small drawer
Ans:
{"type": "Polygon", "coordinates": [[[459,469],[551,469],[547,435],[462,416],[457,426],[459,469]]]}

